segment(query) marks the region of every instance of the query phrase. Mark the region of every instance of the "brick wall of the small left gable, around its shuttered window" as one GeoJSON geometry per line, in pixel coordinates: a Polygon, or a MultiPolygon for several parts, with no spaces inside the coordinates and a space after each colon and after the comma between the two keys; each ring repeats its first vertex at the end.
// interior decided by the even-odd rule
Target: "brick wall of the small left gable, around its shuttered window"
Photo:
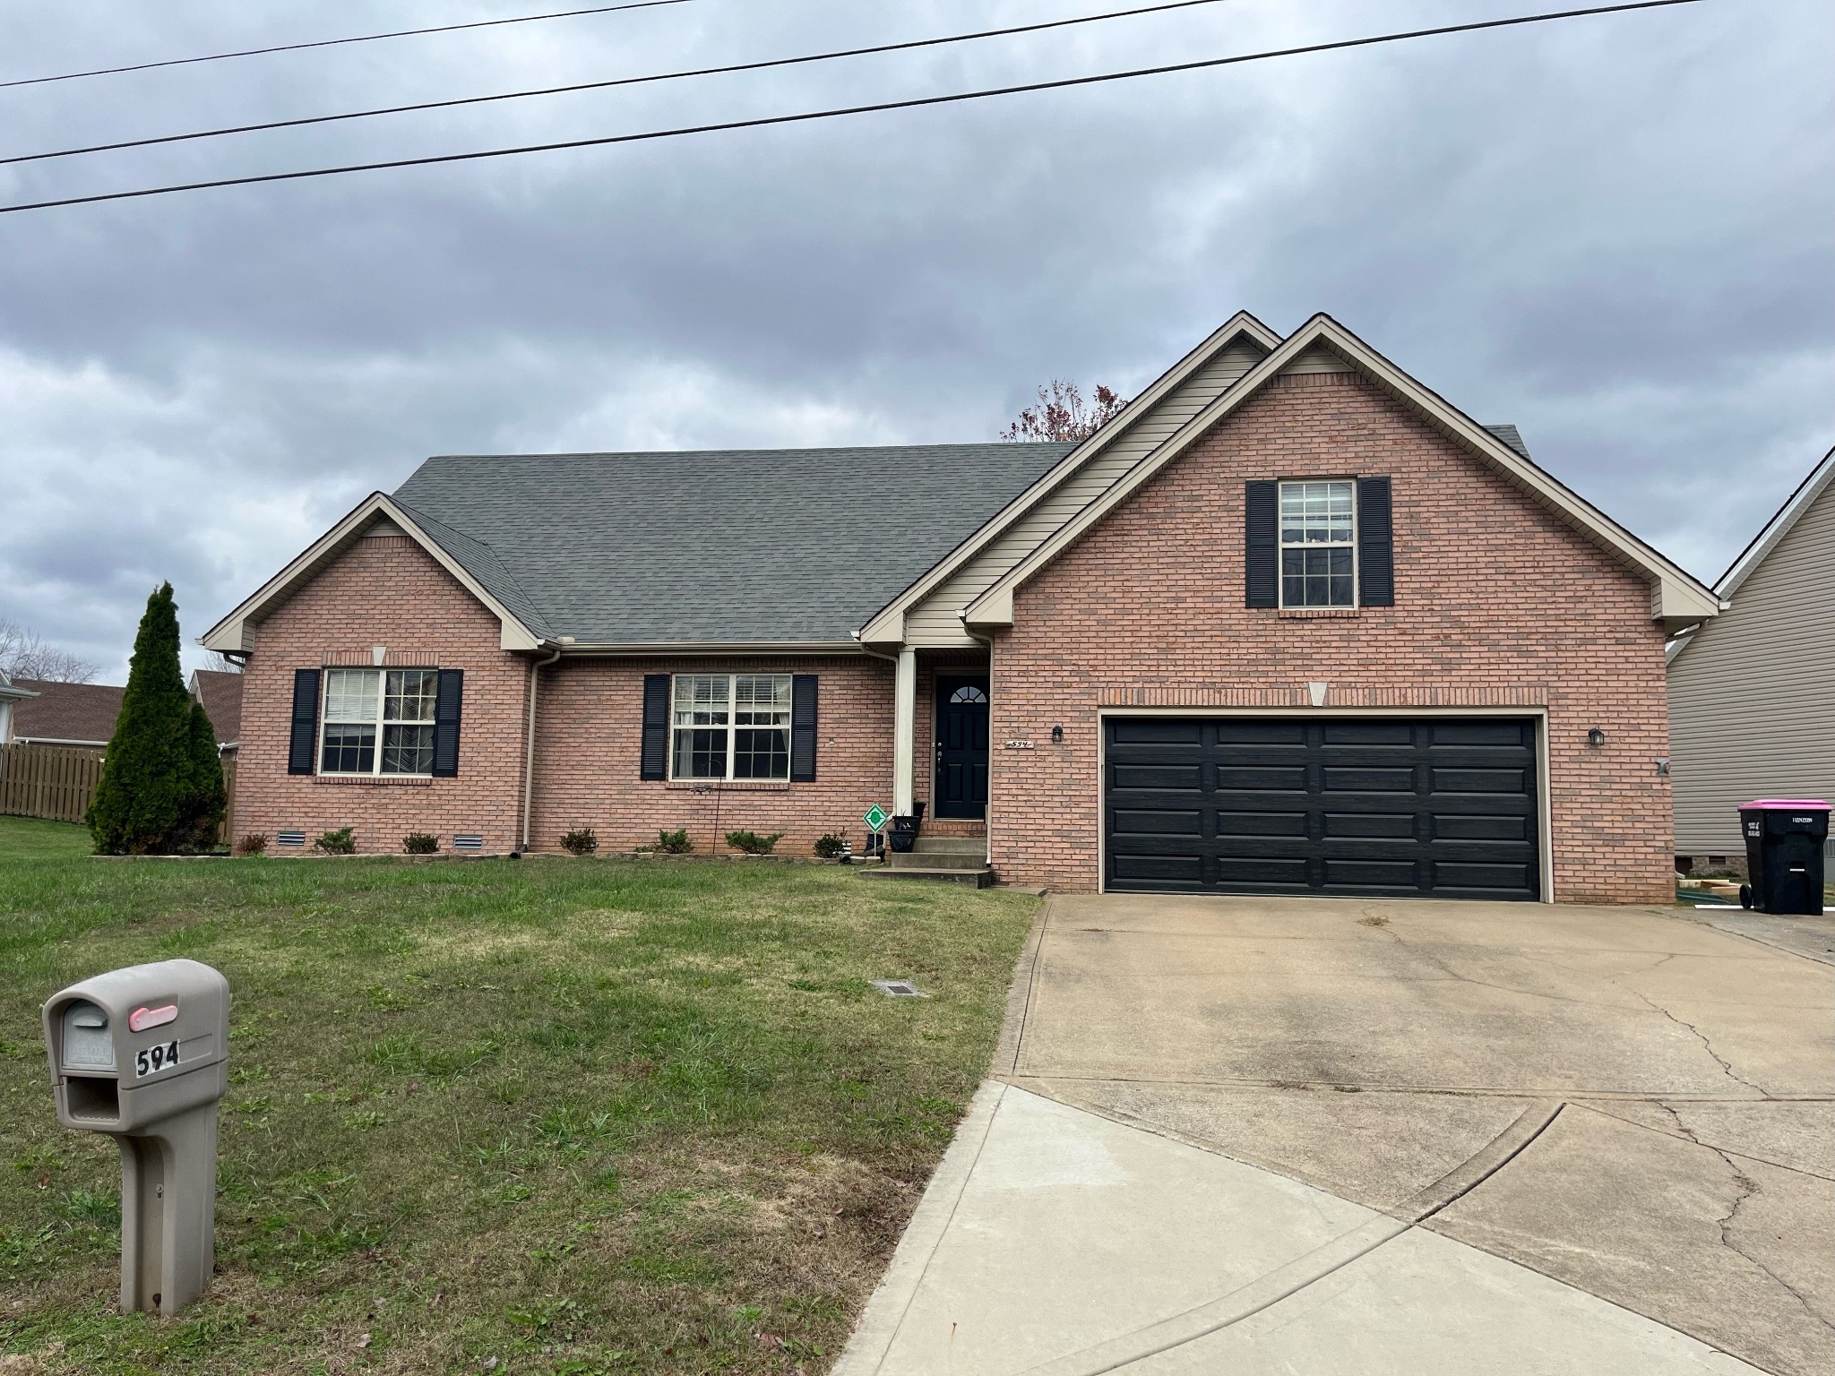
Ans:
{"type": "MultiPolygon", "coordinates": [[[[514,849],[523,805],[528,668],[497,648],[499,626],[406,536],[358,539],[255,627],[242,684],[237,838],[356,827],[358,851],[400,851],[409,831],[514,849]],[[371,664],[464,670],[457,778],[321,778],[286,772],[294,670],[371,664]]],[[[284,851],[283,851],[284,853],[284,851]]]]}

